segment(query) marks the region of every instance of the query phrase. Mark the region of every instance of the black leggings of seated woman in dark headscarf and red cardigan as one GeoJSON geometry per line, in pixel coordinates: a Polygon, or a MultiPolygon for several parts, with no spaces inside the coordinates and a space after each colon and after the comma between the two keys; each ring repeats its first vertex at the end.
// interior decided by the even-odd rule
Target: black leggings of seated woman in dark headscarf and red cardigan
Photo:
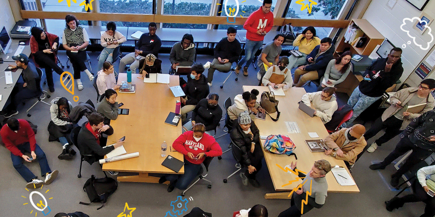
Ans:
{"type": "Polygon", "coordinates": [[[62,74],[64,72],[63,69],[61,69],[59,66],[57,66],[55,59],[54,59],[54,53],[34,53],[33,56],[35,57],[35,62],[41,67],[45,69],[45,74],[47,77],[47,84],[49,87],[54,86],[53,82],[53,70],[57,74],[62,74]]]}

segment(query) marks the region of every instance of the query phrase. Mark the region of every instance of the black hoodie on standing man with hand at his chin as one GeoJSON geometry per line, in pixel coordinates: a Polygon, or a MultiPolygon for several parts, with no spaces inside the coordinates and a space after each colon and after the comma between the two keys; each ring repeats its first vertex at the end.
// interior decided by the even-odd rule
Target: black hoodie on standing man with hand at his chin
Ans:
{"type": "Polygon", "coordinates": [[[386,63],[387,58],[379,58],[368,66],[362,76],[365,77],[368,75],[371,81],[362,80],[359,83],[359,91],[361,91],[362,94],[370,97],[379,97],[384,94],[385,90],[400,79],[403,73],[401,59],[398,59],[397,62],[393,64],[390,72],[384,72],[386,63]],[[375,76],[376,74],[378,74],[378,76],[375,76]]]}

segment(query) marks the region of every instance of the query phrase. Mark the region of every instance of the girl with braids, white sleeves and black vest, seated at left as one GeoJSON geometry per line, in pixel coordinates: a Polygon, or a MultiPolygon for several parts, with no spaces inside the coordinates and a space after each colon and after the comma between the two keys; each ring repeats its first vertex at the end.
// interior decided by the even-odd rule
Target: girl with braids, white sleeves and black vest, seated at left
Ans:
{"type": "Polygon", "coordinates": [[[74,128],[73,121],[70,118],[73,105],[65,97],[56,97],[51,100],[50,116],[51,121],[48,124],[50,137],[48,141],[60,141],[62,153],[57,156],[60,160],[71,160],[76,154],[74,149],[70,148],[73,144],[70,138],[70,132],[74,128]]]}

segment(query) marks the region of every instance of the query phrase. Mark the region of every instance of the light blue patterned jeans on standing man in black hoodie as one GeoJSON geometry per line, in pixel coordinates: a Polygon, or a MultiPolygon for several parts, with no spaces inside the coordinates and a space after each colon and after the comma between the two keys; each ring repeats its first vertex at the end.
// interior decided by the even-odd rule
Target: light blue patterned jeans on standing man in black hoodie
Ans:
{"type": "Polygon", "coordinates": [[[364,110],[367,109],[368,106],[373,104],[373,102],[376,102],[378,99],[381,99],[381,96],[370,97],[368,95],[364,95],[363,93],[361,93],[361,91],[359,91],[359,87],[356,87],[348,100],[348,104],[353,107],[354,113],[351,119],[343,123],[341,127],[346,128],[346,126],[351,124],[355,120],[355,118],[357,118],[361,114],[361,112],[364,112],[364,110]]]}

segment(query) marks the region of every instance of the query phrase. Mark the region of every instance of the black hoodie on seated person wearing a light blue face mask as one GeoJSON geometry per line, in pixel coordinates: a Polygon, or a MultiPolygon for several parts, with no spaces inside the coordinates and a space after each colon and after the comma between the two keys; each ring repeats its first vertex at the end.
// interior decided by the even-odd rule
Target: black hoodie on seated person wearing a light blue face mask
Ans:
{"type": "Polygon", "coordinates": [[[207,77],[201,74],[200,79],[191,79],[190,75],[187,75],[187,84],[183,88],[184,93],[187,96],[186,105],[196,105],[201,99],[208,96],[210,87],[207,84],[207,77]]]}

